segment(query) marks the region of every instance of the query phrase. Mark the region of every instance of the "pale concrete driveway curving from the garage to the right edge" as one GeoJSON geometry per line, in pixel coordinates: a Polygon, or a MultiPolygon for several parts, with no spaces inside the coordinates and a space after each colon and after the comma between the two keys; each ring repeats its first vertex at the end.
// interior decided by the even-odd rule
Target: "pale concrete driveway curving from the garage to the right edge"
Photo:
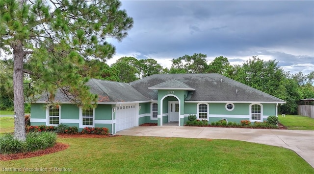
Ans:
{"type": "Polygon", "coordinates": [[[314,131],[208,128],[186,126],[140,126],[118,135],[232,139],[293,150],[314,168],[314,131]]]}

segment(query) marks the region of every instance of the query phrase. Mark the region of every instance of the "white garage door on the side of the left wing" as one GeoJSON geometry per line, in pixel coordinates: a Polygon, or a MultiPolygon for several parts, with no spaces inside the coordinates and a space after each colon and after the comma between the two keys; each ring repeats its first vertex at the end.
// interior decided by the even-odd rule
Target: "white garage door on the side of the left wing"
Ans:
{"type": "Polygon", "coordinates": [[[116,131],[122,131],[136,126],[135,104],[121,105],[117,107],[116,110],[116,131]]]}

